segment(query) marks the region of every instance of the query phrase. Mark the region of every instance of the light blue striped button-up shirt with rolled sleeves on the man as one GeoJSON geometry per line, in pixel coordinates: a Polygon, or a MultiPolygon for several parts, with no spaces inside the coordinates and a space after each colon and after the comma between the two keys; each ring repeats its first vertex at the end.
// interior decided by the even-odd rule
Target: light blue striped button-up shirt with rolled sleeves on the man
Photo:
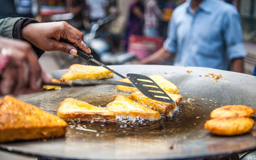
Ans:
{"type": "Polygon", "coordinates": [[[191,0],[178,6],[168,26],[164,48],[176,66],[228,70],[232,59],[245,57],[240,17],[235,6],[204,0],[195,13],[191,0]]]}

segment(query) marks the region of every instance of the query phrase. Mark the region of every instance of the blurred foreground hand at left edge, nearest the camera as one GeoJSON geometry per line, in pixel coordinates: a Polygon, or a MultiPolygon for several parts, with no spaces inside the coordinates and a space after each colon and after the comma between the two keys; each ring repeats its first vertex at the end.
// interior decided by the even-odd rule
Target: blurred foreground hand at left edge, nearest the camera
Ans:
{"type": "Polygon", "coordinates": [[[0,95],[38,92],[43,82],[51,77],[41,70],[31,45],[0,37],[0,95]]]}

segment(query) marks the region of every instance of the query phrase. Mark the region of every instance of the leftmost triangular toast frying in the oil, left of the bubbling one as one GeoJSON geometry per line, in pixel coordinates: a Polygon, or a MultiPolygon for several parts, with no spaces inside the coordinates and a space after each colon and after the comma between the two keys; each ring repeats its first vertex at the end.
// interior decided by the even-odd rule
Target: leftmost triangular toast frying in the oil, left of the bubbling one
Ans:
{"type": "Polygon", "coordinates": [[[115,113],[74,98],[66,98],[61,102],[57,114],[66,121],[116,122],[115,113]]]}

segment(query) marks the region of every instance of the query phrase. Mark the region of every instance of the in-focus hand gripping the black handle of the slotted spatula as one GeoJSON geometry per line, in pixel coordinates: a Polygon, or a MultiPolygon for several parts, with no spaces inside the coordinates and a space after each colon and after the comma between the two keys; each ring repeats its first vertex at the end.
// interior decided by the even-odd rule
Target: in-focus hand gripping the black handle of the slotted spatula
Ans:
{"type": "Polygon", "coordinates": [[[76,44],[86,53],[91,50],[84,44],[84,34],[65,21],[48,23],[30,23],[22,29],[22,38],[44,51],[61,51],[77,55],[74,46],[59,42],[60,38],[76,44]]]}

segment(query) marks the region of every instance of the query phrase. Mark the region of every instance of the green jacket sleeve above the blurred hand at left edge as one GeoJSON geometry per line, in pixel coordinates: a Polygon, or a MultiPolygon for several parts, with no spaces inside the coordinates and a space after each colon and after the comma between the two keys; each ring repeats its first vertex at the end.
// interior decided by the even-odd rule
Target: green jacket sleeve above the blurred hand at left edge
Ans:
{"type": "Polygon", "coordinates": [[[3,37],[8,37],[8,38],[13,38],[13,28],[15,23],[18,20],[21,20],[22,17],[17,17],[17,18],[11,18],[11,17],[7,17],[4,19],[0,20],[0,36],[3,37]]]}

